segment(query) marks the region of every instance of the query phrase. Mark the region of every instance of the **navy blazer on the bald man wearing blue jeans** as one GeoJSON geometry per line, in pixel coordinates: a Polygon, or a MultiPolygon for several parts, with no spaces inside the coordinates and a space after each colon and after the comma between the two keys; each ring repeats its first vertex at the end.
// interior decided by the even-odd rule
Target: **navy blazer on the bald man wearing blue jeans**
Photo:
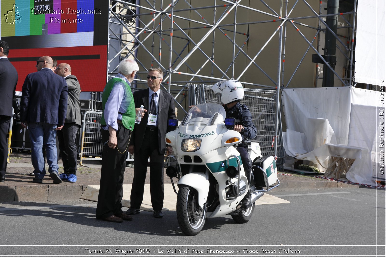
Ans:
{"type": "Polygon", "coordinates": [[[64,125],[67,113],[67,83],[51,69],[25,77],[20,101],[20,122],[64,125]]]}

